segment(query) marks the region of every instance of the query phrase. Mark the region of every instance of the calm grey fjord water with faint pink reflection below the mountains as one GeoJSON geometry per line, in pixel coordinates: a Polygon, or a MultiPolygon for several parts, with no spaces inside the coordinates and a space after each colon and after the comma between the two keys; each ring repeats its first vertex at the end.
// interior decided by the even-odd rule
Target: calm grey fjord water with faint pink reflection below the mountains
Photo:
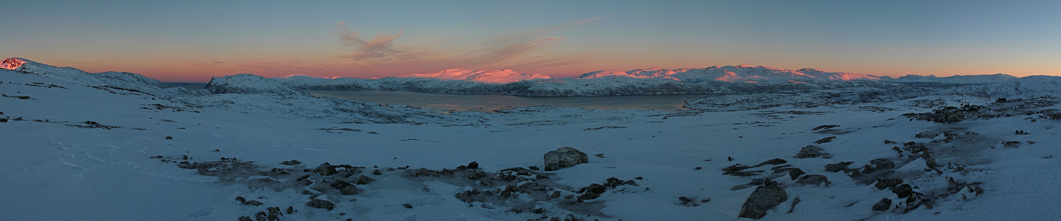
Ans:
{"type": "Polygon", "coordinates": [[[593,109],[689,109],[681,105],[713,94],[685,95],[643,95],[643,96],[593,96],[593,97],[518,97],[499,94],[437,94],[405,90],[302,90],[313,96],[325,96],[376,102],[443,108],[456,110],[489,112],[520,106],[563,106],[593,109]]]}

